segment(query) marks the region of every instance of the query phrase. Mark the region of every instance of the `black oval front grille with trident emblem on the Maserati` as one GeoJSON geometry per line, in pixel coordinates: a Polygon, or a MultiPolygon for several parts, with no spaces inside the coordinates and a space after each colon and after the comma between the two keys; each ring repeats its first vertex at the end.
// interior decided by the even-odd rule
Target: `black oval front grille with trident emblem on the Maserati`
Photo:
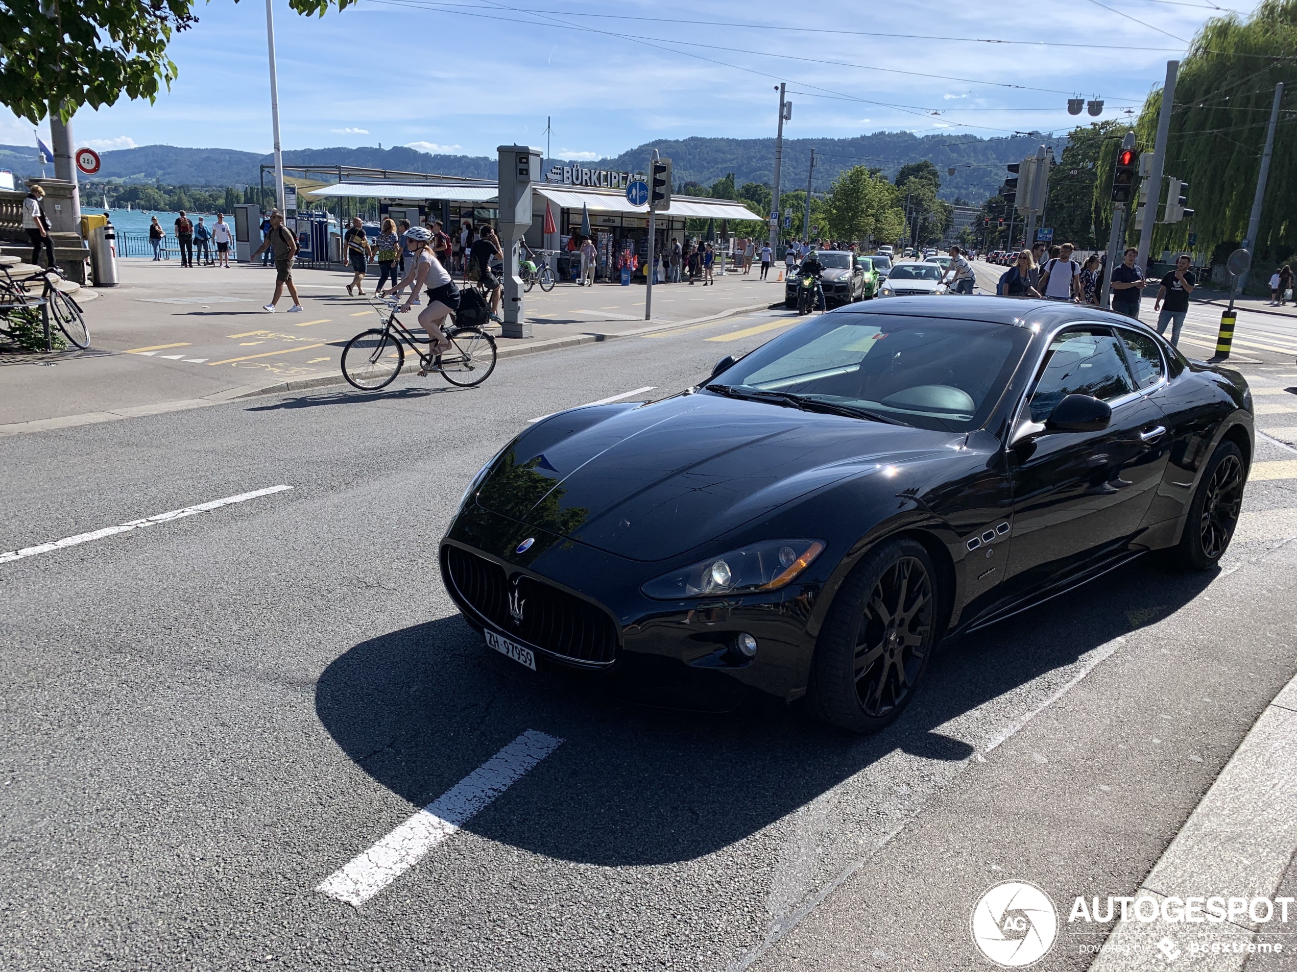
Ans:
{"type": "Polygon", "coordinates": [[[589,601],[525,574],[510,578],[494,561],[460,547],[442,548],[446,577],[482,618],[543,652],[582,665],[610,665],[617,657],[617,627],[589,601]],[[521,613],[514,618],[511,603],[521,613]]]}

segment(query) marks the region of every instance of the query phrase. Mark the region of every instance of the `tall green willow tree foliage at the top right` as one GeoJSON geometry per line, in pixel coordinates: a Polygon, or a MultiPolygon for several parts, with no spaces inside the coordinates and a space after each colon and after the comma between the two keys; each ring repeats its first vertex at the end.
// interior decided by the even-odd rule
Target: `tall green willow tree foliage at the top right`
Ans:
{"type": "MultiPolygon", "coordinates": [[[[1284,98],[1275,130],[1274,158],[1261,210],[1254,253],[1261,263],[1287,260],[1297,253],[1297,0],[1265,0],[1244,21],[1236,13],[1208,21],[1180,64],[1166,144],[1163,172],[1189,184],[1191,219],[1160,224],[1153,249],[1210,253],[1220,242],[1241,240],[1248,231],[1252,197],[1261,171],[1266,126],[1275,83],[1284,98]]],[[[1162,92],[1144,102],[1137,133],[1152,150],[1162,92]]],[[[1152,193],[1150,193],[1152,200],[1152,193]]],[[[1161,215],[1161,213],[1160,213],[1161,215]]]]}

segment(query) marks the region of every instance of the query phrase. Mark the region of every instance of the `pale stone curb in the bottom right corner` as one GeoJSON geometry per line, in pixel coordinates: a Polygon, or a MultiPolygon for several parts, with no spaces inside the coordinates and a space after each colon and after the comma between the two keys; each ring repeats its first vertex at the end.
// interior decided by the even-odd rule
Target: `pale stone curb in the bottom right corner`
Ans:
{"type": "MultiPolygon", "coordinates": [[[[1171,925],[1135,920],[1135,915],[1143,899],[1161,910],[1167,899],[1184,903],[1188,898],[1220,896],[1250,902],[1255,896],[1274,901],[1276,893],[1284,893],[1280,889],[1297,848],[1294,740],[1297,678],[1257,717],[1206,796],[1140,883],[1131,920],[1113,928],[1089,972],[1165,969],[1184,951],[1191,960],[1206,959],[1213,972],[1241,972],[1261,945],[1278,940],[1284,953],[1293,947],[1292,924],[1261,923],[1249,914],[1171,925]],[[1213,945],[1227,950],[1213,951],[1213,945]],[[1204,947],[1206,951],[1198,951],[1204,947]]],[[[1289,915],[1293,920],[1297,914],[1289,915]]]]}

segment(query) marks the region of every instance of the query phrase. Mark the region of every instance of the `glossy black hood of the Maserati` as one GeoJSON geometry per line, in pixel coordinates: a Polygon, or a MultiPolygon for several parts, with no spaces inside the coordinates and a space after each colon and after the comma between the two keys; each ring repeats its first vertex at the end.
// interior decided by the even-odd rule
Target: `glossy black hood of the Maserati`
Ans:
{"type": "Polygon", "coordinates": [[[495,460],[476,499],[542,530],[655,561],[843,478],[885,469],[895,477],[962,439],[711,394],[677,395],[547,419],[495,460]]]}

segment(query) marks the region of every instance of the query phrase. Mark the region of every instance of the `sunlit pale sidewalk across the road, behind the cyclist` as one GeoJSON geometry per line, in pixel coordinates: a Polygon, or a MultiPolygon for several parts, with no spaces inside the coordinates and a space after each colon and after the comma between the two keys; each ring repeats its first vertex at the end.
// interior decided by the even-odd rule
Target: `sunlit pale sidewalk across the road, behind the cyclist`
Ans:
{"type": "MultiPolygon", "coordinates": [[[[350,276],[336,271],[294,270],[303,312],[288,314],[285,297],[281,310],[268,314],[262,305],[274,288],[270,268],[180,268],[152,260],[118,266],[122,285],[95,292],[99,299],[87,308],[91,353],[0,362],[10,365],[0,390],[0,434],[336,384],[342,346],[379,323],[370,298],[349,297],[350,276]]],[[[659,284],[654,318],[646,321],[643,285],[559,284],[549,294],[533,288],[524,297],[533,337],[503,338],[498,327],[492,330],[501,356],[508,358],[687,327],[765,308],[782,295],[774,273],[767,281],[732,273],[713,286],[659,284]]],[[[414,325],[416,311],[405,315],[407,324],[414,325]]]]}

